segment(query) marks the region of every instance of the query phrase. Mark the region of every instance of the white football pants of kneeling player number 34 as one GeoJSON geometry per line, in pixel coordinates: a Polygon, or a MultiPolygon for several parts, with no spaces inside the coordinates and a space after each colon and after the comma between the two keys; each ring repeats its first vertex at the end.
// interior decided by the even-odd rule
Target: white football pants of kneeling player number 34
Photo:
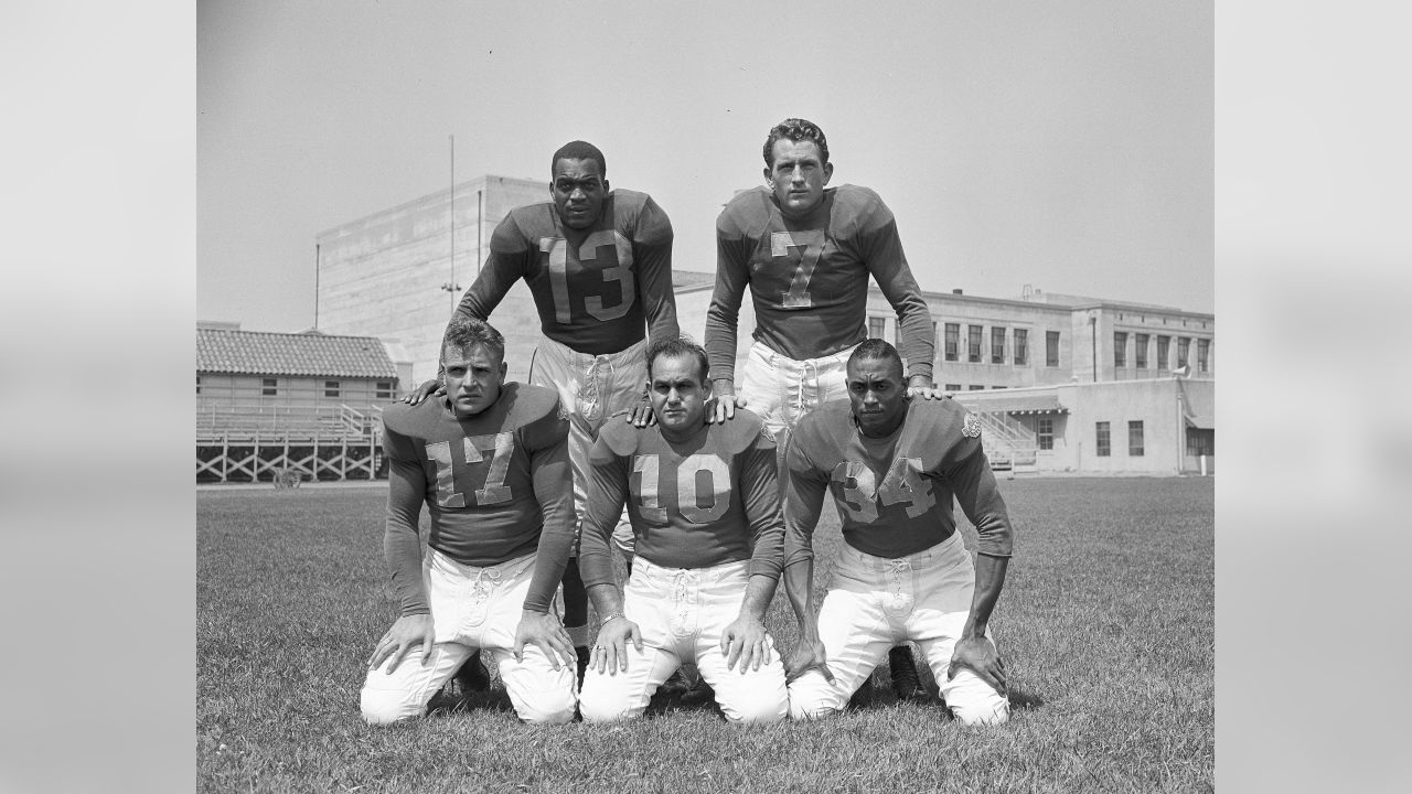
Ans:
{"type": "Polygon", "coordinates": [[[819,639],[834,682],[818,670],[796,678],[789,685],[789,715],[812,719],[843,711],[888,648],[914,640],[956,719],[1005,722],[1010,701],[976,672],[963,667],[946,677],[974,589],[976,568],[960,533],[897,559],[843,544],[819,608],[819,639]]]}

